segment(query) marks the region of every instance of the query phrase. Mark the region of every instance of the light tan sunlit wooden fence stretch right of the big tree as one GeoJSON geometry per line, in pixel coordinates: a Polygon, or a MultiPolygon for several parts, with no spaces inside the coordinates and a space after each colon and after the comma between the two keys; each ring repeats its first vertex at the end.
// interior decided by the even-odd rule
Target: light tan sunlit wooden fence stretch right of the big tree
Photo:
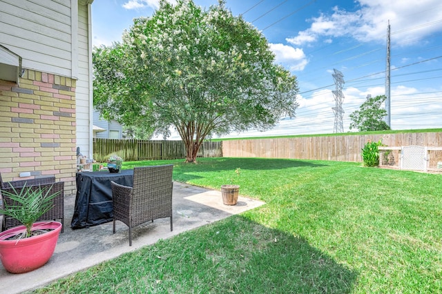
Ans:
{"type": "Polygon", "coordinates": [[[367,141],[382,140],[387,146],[441,147],[442,133],[397,133],[383,135],[342,135],[223,141],[224,157],[269,157],[362,161],[367,141]]]}

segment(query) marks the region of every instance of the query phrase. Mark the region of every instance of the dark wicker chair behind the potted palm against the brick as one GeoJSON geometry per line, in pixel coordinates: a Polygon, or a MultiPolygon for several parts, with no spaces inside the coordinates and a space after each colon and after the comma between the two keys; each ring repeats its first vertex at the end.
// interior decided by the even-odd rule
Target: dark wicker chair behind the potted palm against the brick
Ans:
{"type": "MultiPolygon", "coordinates": [[[[0,189],[2,191],[7,191],[9,193],[14,193],[14,189],[17,190],[18,192],[18,189],[23,188],[23,186],[25,186],[26,188],[30,186],[32,186],[32,188],[39,188],[39,187],[41,187],[42,189],[50,188],[49,194],[53,194],[56,193],[57,191],[60,191],[59,195],[57,195],[57,197],[52,199],[52,202],[54,203],[52,209],[48,210],[44,215],[41,215],[38,221],[59,220],[63,225],[61,227],[61,232],[64,232],[64,182],[56,183],[55,177],[41,177],[37,179],[3,182],[1,181],[1,175],[0,175],[0,186],[1,186],[0,189]]],[[[9,205],[13,204],[12,199],[4,195],[3,193],[1,197],[3,201],[6,202],[7,204],[9,205]]],[[[19,225],[21,224],[17,221],[17,219],[14,219],[8,215],[3,215],[3,222],[1,224],[2,231],[19,225]]]]}

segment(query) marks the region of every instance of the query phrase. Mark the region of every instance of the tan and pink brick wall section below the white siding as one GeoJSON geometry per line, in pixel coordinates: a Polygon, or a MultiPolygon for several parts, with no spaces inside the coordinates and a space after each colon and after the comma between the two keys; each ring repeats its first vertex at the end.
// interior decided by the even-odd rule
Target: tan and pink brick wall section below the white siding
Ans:
{"type": "Polygon", "coordinates": [[[3,181],[54,175],[75,193],[75,80],[26,70],[19,85],[0,80],[3,181]],[[30,177],[19,177],[30,172],[30,177]]]}

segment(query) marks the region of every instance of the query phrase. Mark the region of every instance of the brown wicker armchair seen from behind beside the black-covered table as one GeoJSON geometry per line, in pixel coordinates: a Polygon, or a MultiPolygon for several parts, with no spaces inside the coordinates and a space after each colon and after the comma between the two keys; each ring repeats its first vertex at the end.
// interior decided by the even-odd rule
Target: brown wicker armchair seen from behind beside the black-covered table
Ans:
{"type": "Polygon", "coordinates": [[[132,246],[132,228],[163,217],[172,223],[173,164],[144,166],[133,169],[133,187],[111,182],[113,195],[113,233],[115,221],[129,227],[129,246],[132,246]]]}

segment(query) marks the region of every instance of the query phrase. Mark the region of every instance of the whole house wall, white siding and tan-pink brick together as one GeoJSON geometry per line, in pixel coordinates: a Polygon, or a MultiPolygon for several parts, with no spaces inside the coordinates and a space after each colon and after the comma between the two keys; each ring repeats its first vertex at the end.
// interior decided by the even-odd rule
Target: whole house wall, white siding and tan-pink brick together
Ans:
{"type": "Polygon", "coordinates": [[[25,69],[18,84],[0,80],[6,181],[55,175],[75,193],[77,146],[92,157],[92,1],[0,0],[0,44],[25,69]]]}

